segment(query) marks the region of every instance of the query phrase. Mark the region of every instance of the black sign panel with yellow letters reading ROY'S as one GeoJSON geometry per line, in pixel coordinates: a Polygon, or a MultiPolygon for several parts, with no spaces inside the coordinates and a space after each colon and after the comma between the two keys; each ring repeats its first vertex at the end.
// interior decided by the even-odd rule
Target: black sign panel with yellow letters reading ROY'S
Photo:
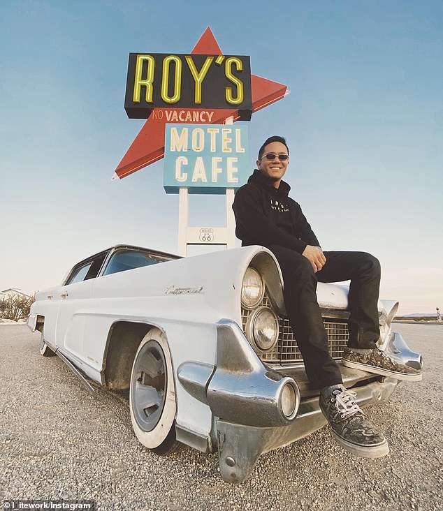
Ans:
{"type": "MultiPolygon", "coordinates": [[[[236,108],[251,119],[251,64],[244,55],[129,54],[124,109],[147,119],[154,108],[236,108]]],[[[173,121],[176,119],[172,119],[173,121]]]]}

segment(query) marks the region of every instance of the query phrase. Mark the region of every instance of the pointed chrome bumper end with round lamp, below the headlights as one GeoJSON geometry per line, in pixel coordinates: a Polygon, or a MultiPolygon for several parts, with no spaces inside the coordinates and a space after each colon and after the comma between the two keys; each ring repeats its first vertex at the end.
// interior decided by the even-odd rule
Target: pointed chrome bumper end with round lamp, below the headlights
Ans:
{"type": "Polygon", "coordinates": [[[267,370],[237,323],[217,322],[217,368],[207,390],[213,415],[228,422],[276,427],[290,424],[300,405],[300,392],[293,378],[267,370]],[[295,392],[290,417],[282,413],[285,385],[295,392]]]}

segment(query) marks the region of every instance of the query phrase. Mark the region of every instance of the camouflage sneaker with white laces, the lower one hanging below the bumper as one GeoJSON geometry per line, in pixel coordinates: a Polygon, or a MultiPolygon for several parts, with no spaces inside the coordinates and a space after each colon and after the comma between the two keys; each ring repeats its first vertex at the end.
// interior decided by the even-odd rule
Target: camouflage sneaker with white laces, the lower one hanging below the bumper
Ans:
{"type": "Polygon", "coordinates": [[[377,432],[354,401],[356,392],[337,389],[320,394],[320,408],[333,436],[343,449],[363,458],[379,458],[389,452],[386,438],[377,432]]]}

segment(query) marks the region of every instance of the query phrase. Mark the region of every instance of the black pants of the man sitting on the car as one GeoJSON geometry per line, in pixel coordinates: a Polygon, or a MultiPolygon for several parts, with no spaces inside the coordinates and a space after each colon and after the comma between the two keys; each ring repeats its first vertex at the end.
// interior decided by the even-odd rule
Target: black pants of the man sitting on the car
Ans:
{"type": "Polygon", "coordinates": [[[380,334],[379,261],[366,252],[324,252],[326,264],[314,273],[304,255],[278,245],[268,246],[268,249],[282,269],[284,304],[303,355],[307,377],[320,387],[342,383],[340,369],[329,355],[328,335],[317,302],[317,282],[351,279],[348,346],[376,348],[380,334]]]}

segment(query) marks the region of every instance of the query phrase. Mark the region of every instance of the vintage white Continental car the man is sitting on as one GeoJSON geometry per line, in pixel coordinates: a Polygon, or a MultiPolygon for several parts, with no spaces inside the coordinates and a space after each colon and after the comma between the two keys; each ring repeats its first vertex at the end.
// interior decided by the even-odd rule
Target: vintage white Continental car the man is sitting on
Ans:
{"type": "MultiPolygon", "coordinates": [[[[184,443],[217,452],[222,478],[242,482],[263,452],[322,427],[319,389],[306,377],[282,295],[261,246],[179,258],[119,245],[79,262],[61,286],[38,292],[28,325],[42,355],[56,353],[91,387],[129,391],[136,436],[157,454],[184,443]]],[[[337,361],[347,346],[345,286],[317,295],[337,361]]],[[[391,330],[398,302],[380,301],[380,346],[421,367],[391,330]]],[[[341,364],[339,362],[339,364],[341,364]]],[[[340,365],[361,406],[398,380],[340,365]]]]}

